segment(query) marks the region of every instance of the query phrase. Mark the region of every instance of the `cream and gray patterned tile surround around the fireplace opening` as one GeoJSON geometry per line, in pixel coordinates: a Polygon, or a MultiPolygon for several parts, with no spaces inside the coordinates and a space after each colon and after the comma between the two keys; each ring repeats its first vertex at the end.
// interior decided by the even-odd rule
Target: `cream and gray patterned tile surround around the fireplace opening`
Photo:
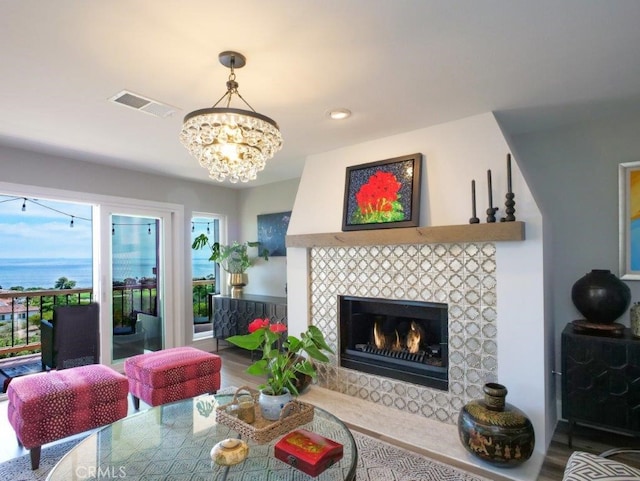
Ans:
{"type": "Polygon", "coordinates": [[[323,367],[319,385],[385,407],[455,424],[496,381],[496,248],[491,242],[314,247],[311,322],[338,351],[338,296],[441,302],[449,307],[449,389],[323,367]]]}

